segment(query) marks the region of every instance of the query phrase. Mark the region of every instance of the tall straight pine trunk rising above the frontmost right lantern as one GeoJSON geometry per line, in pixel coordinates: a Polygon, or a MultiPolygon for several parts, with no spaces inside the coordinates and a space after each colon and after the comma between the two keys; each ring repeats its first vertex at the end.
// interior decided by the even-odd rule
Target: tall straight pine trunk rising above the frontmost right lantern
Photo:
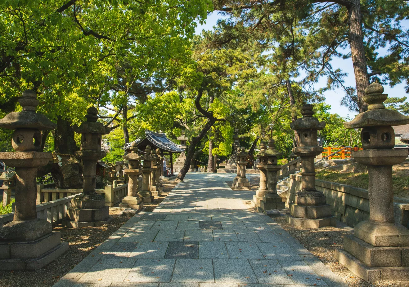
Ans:
{"type": "Polygon", "coordinates": [[[358,96],[358,109],[362,113],[368,109],[364,102],[365,89],[369,85],[368,69],[364,50],[364,37],[362,33],[360,0],[351,0],[347,7],[349,16],[349,45],[351,46],[352,63],[355,73],[355,83],[358,96]]]}

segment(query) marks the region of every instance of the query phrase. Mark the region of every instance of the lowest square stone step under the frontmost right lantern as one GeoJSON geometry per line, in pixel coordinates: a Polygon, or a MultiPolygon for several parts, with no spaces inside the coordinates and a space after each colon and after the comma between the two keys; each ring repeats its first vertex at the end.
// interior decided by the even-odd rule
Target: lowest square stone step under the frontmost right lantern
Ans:
{"type": "Polygon", "coordinates": [[[335,250],[339,263],[368,283],[378,280],[409,280],[409,267],[369,267],[343,249],[335,250]]]}

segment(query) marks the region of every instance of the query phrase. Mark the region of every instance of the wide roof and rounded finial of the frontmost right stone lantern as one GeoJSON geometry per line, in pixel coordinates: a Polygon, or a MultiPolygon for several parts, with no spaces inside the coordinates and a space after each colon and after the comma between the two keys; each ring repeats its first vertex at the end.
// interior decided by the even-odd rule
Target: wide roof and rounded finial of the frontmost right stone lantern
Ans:
{"type": "Polygon", "coordinates": [[[369,104],[368,111],[358,114],[351,122],[344,122],[347,129],[360,129],[371,126],[400,126],[409,124],[409,116],[385,109],[382,104],[388,95],[383,93],[382,85],[373,82],[365,89],[364,101],[369,104]]]}

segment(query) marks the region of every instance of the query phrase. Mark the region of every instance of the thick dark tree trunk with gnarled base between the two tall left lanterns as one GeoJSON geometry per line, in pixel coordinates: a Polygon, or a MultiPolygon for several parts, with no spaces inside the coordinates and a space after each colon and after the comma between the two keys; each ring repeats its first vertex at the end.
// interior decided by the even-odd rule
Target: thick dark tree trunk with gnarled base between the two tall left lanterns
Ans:
{"type": "Polygon", "coordinates": [[[78,150],[74,139],[74,130],[71,123],[57,118],[57,128],[54,131],[54,148],[57,154],[61,155],[62,166],[54,163],[51,169],[51,176],[57,188],[82,188],[83,166],[73,155],[78,150]]]}

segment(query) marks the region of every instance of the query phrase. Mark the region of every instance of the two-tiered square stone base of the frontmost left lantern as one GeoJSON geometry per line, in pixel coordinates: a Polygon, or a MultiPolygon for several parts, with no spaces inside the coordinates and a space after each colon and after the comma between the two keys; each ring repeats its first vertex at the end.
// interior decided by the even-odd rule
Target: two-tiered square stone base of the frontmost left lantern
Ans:
{"type": "Polygon", "coordinates": [[[41,269],[67,249],[59,231],[37,240],[0,243],[0,270],[41,269]]]}

